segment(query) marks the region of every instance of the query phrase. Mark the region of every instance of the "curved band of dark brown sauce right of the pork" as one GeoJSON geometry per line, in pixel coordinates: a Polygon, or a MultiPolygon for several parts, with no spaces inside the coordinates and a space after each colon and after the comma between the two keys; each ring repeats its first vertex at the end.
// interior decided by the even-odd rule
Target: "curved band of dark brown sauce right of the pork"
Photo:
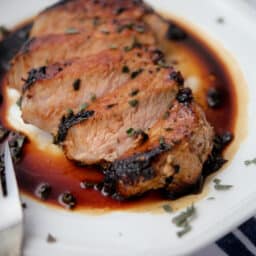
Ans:
{"type": "Polygon", "coordinates": [[[192,31],[182,28],[179,32],[179,26],[171,24],[171,28],[175,27],[175,33],[172,36],[169,35],[172,47],[185,48],[192,52],[200,62],[200,68],[204,70],[204,88],[195,95],[195,98],[203,106],[207,120],[214,126],[217,134],[233,131],[236,122],[237,97],[227,67],[219,56],[192,31]],[[216,108],[209,107],[207,103],[207,95],[211,89],[219,93],[220,104],[216,108]]]}

